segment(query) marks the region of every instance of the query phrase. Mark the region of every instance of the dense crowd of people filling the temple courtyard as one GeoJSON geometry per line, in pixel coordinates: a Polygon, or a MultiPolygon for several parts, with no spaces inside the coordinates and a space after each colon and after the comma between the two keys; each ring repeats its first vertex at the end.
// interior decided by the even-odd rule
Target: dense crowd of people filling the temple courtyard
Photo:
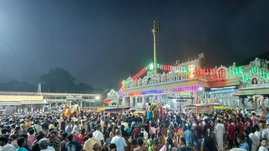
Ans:
{"type": "Polygon", "coordinates": [[[163,118],[153,119],[147,116],[152,114],[134,116],[128,111],[67,117],[62,110],[1,116],[1,151],[268,151],[269,147],[269,114],[266,125],[255,112],[187,116],[164,109],[163,118]]]}

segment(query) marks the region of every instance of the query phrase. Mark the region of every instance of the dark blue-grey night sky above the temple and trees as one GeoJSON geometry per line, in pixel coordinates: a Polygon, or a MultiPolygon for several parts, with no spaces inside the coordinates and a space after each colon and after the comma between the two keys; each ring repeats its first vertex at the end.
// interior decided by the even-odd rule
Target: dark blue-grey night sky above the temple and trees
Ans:
{"type": "Polygon", "coordinates": [[[118,87],[157,55],[172,65],[204,52],[209,67],[269,48],[268,0],[0,0],[0,75],[38,84],[54,67],[95,88],[118,87]]]}

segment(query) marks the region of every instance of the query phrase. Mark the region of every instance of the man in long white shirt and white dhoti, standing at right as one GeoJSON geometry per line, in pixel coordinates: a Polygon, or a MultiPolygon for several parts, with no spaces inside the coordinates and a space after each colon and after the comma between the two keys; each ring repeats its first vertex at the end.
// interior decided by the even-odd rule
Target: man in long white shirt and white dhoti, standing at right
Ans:
{"type": "Polygon", "coordinates": [[[218,143],[218,148],[223,151],[223,135],[226,133],[225,127],[221,124],[221,120],[217,120],[217,124],[214,127],[215,139],[218,143]]]}

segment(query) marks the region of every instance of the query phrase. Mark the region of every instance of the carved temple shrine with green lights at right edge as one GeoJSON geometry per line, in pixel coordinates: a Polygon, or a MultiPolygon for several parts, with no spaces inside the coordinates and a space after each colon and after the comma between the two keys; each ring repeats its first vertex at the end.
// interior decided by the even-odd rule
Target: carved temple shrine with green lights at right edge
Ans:
{"type": "Polygon", "coordinates": [[[269,61],[256,58],[242,66],[243,83],[233,94],[239,96],[242,109],[261,111],[269,107],[269,61]]]}

